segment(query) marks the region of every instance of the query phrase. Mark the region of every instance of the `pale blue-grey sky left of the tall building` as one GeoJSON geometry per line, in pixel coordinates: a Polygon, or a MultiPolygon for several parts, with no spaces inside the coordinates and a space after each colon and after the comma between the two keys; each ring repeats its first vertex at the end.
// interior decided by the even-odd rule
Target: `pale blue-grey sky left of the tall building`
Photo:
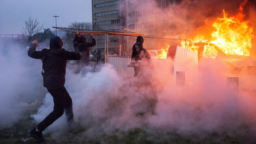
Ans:
{"type": "Polygon", "coordinates": [[[31,14],[43,28],[67,27],[72,22],[92,22],[91,0],[0,0],[0,34],[22,34],[31,14]]]}

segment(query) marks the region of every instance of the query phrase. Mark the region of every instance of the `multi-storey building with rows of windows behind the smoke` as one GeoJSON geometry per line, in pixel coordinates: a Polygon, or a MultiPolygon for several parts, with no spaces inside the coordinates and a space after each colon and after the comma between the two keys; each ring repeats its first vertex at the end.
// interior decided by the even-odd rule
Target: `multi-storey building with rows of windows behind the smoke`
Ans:
{"type": "MultiPolygon", "coordinates": [[[[160,49],[169,41],[156,38],[176,38],[174,15],[175,0],[92,0],[93,29],[122,31],[122,28],[148,34],[143,47],[147,50],[160,49]]],[[[119,54],[119,47],[130,53],[136,37],[109,37],[109,54],[119,54]],[[116,42],[113,42],[116,41],[116,42]]],[[[105,47],[105,37],[98,40],[98,48],[105,47]]],[[[103,50],[103,49],[102,49],[103,50]]]]}

